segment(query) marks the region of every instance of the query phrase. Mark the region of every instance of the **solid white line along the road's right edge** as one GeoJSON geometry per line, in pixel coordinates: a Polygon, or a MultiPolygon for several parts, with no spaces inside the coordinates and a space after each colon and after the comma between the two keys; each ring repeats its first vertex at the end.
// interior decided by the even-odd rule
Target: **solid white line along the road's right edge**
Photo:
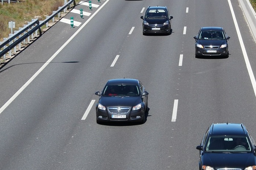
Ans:
{"type": "Polygon", "coordinates": [[[254,95],[256,97],[256,81],[255,81],[255,77],[254,77],[253,72],[252,72],[252,67],[250,66],[249,58],[248,58],[247,53],[246,53],[246,49],[245,49],[245,46],[244,46],[242,35],[240,33],[240,30],[239,30],[239,27],[238,27],[238,24],[237,24],[237,19],[235,18],[235,13],[234,13],[234,10],[233,10],[233,7],[232,7],[232,4],[231,4],[230,0],[228,0],[228,4],[229,4],[231,14],[232,14],[232,17],[233,17],[233,20],[234,20],[235,29],[237,30],[238,39],[239,39],[240,46],[241,46],[241,49],[242,49],[242,52],[243,52],[243,55],[244,55],[244,60],[245,60],[245,64],[246,64],[249,76],[250,76],[250,81],[252,82],[254,95]]]}

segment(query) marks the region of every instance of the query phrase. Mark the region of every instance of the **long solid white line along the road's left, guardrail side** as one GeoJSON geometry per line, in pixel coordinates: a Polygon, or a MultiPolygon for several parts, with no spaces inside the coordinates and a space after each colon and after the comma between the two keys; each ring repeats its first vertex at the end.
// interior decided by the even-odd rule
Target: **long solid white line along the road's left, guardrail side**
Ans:
{"type": "Polygon", "coordinates": [[[85,27],[85,25],[99,12],[99,10],[101,10],[101,8],[103,8],[107,2],[109,0],[106,0],[105,3],[103,5],[101,5],[97,11],[94,12],[94,14],[92,14],[92,16],[90,18],[88,18],[88,20],[61,46],[61,48],[59,48],[52,56],[51,58],[49,58],[49,60],[46,61],[46,63],[28,80],[28,82],[26,82],[1,108],[0,108],[0,114],[4,111],[4,109],[6,109],[6,107],[8,105],[10,105],[10,103],[12,101],[14,101],[14,99],[32,82],[32,80],[34,78],[36,78],[37,75],[39,75],[39,73],[41,71],[43,71],[43,69],[57,56],[57,54],[59,54],[59,52],[61,52],[61,50],[63,48],[65,48],[65,46],[67,44],[69,44],[69,42],[85,27]]]}

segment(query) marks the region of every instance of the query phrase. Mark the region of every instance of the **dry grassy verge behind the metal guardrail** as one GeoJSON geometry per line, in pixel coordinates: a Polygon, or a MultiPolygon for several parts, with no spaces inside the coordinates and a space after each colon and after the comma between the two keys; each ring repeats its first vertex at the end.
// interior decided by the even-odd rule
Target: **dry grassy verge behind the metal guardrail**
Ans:
{"type": "MultiPolygon", "coordinates": [[[[76,0],[77,2],[78,0],[76,0]]],[[[64,0],[23,0],[19,3],[0,3],[0,41],[8,37],[11,29],[8,28],[9,21],[15,21],[15,28],[23,27],[27,22],[31,22],[35,16],[40,16],[44,20],[52,11],[58,10],[63,6],[64,0]]]]}

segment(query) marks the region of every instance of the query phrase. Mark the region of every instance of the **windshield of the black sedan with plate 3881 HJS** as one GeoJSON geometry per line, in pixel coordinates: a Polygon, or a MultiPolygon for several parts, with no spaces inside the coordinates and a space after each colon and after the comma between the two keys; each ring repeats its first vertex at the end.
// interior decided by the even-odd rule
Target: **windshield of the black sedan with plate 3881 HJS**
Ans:
{"type": "Polygon", "coordinates": [[[139,88],[132,84],[108,85],[103,91],[103,96],[139,96],[139,88]]]}

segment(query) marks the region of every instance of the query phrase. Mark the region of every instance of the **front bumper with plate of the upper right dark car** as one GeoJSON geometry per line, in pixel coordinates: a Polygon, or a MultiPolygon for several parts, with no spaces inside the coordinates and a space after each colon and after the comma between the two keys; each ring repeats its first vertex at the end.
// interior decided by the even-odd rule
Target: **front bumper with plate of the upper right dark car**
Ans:
{"type": "Polygon", "coordinates": [[[219,49],[205,49],[205,48],[195,48],[195,54],[197,56],[227,56],[228,48],[219,48],[219,49]]]}

